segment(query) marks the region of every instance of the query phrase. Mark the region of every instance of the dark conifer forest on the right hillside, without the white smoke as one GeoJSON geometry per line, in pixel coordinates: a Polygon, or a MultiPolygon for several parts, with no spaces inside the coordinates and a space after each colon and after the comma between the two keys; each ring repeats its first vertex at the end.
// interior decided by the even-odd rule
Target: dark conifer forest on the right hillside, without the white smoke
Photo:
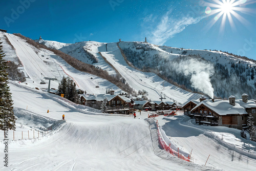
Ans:
{"type": "Polygon", "coordinates": [[[183,68],[176,68],[173,63],[181,63],[193,58],[205,63],[205,65],[213,65],[214,70],[212,70],[212,73],[214,74],[211,74],[210,82],[215,90],[215,98],[216,96],[226,98],[230,95],[240,97],[243,93],[249,94],[250,98],[256,98],[256,95],[253,93],[256,89],[256,83],[254,81],[255,71],[253,68],[244,68],[240,62],[236,64],[230,62],[230,66],[225,66],[221,63],[211,63],[199,55],[188,55],[173,59],[162,54],[151,55],[148,53],[148,49],[145,50],[143,48],[135,50],[135,47],[128,47],[122,48],[122,50],[127,60],[136,68],[144,72],[154,72],[184,90],[190,90],[190,92],[198,91],[191,85],[191,74],[187,75],[180,72],[183,68]],[[249,84],[251,80],[254,81],[254,85],[249,84]]]}

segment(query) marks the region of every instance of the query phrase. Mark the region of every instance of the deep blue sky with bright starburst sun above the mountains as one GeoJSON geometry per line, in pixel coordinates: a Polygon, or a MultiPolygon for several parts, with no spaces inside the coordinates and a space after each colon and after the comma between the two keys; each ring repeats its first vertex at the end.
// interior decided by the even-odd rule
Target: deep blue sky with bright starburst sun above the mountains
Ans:
{"type": "Polygon", "coordinates": [[[255,11],[255,0],[9,0],[0,1],[0,29],[68,43],[147,37],[157,45],[216,49],[256,60],[255,11]],[[230,19],[217,17],[222,12],[230,19]]]}

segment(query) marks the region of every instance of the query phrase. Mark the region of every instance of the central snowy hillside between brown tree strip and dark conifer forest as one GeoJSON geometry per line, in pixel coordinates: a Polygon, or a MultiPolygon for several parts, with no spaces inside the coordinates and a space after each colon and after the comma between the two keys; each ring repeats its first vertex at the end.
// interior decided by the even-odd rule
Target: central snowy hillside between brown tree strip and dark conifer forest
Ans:
{"type": "MultiPolygon", "coordinates": [[[[198,99],[201,96],[201,94],[190,93],[180,89],[154,73],[141,72],[129,67],[122,57],[116,42],[106,44],[95,41],[83,41],[63,47],[59,50],[78,60],[106,70],[111,75],[115,75],[116,72],[118,72],[137,92],[139,90],[145,90],[148,93],[148,98],[151,100],[159,100],[162,96],[166,98],[166,101],[183,103],[188,99],[198,99]],[[103,57],[99,52],[101,52],[103,57]],[[86,57],[89,56],[88,53],[92,54],[98,62],[92,63],[92,61],[86,57]]],[[[163,50],[162,52],[166,53],[163,50]]],[[[178,55],[174,56],[177,57],[178,55]]]]}

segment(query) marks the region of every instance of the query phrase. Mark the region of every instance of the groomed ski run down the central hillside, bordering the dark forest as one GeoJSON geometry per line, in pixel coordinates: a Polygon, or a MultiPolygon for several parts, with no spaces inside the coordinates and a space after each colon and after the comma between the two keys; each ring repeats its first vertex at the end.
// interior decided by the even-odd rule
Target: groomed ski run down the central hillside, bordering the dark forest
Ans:
{"type": "MultiPolygon", "coordinates": [[[[109,45],[109,44],[108,44],[109,45]]],[[[154,73],[145,73],[138,71],[127,65],[122,57],[116,43],[111,43],[109,49],[113,51],[102,52],[101,54],[111,63],[112,66],[122,75],[122,77],[135,90],[145,90],[148,92],[148,98],[159,100],[165,97],[165,101],[177,101],[184,103],[187,99],[198,99],[200,94],[190,93],[180,89],[154,73]]]]}

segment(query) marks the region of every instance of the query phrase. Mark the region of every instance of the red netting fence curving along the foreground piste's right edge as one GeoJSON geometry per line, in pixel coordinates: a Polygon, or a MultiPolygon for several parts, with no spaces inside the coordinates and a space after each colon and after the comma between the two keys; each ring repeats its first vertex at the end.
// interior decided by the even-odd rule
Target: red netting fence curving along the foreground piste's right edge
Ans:
{"type": "Polygon", "coordinates": [[[176,152],[176,151],[174,151],[174,149],[172,149],[172,148],[170,147],[170,144],[168,145],[168,144],[164,141],[164,139],[163,139],[163,137],[162,137],[162,135],[161,135],[161,132],[160,132],[160,130],[159,130],[158,122],[157,122],[157,131],[158,131],[158,141],[159,141],[159,144],[161,145],[161,147],[162,147],[166,152],[172,154],[173,156],[177,156],[177,157],[180,158],[180,159],[183,159],[183,160],[185,160],[185,161],[190,162],[190,155],[188,155],[187,157],[185,157],[183,154],[180,154],[180,153],[179,153],[179,148],[178,148],[178,152],[176,152]]]}

